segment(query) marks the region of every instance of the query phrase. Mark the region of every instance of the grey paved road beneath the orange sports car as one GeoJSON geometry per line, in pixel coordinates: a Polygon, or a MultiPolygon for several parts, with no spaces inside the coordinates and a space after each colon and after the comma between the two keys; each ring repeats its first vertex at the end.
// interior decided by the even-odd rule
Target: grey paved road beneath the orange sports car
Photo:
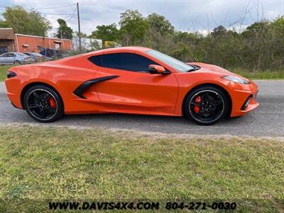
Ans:
{"type": "MultiPolygon", "coordinates": [[[[125,114],[69,115],[53,125],[99,126],[160,133],[284,137],[284,81],[256,82],[259,85],[258,102],[260,107],[246,116],[227,119],[214,126],[198,126],[181,117],[125,114]]],[[[26,111],[13,108],[8,102],[5,92],[4,83],[0,82],[0,124],[37,124],[26,114],[26,111]]]]}

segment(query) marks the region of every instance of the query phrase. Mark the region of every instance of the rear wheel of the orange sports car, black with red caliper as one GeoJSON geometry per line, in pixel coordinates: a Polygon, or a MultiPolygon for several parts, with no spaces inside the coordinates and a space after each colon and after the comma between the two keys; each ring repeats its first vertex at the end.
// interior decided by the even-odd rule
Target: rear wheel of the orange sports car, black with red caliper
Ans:
{"type": "Polygon", "coordinates": [[[41,123],[50,123],[60,119],[64,114],[62,99],[55,89],[36,85],[28,89],[23,97],[24,109],[41,123]]]}

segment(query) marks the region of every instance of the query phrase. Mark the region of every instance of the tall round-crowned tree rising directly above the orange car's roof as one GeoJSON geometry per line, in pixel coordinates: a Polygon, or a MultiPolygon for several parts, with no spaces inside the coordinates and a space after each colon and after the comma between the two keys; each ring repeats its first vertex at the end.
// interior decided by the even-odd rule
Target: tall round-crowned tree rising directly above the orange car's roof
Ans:
{"type": "Polygon", "coordinates": [[[137,10],[121,13],[119,26],[123,45],[142,43],[149,28],[148,22],[137,10]]]}

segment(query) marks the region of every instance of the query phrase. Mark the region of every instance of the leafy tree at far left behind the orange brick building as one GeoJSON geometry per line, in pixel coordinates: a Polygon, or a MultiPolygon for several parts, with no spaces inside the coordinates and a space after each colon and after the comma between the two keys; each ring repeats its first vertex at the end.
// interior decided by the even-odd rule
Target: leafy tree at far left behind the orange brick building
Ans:
{"type": "Polygon", "coordinates": [[[15,33],[45,36],[51,29],[50,22],[40,13],[28,12],[22,6],[6,7],[2,15],[5,21],[1,21],[1,26],[11,27],[15,33]]]}

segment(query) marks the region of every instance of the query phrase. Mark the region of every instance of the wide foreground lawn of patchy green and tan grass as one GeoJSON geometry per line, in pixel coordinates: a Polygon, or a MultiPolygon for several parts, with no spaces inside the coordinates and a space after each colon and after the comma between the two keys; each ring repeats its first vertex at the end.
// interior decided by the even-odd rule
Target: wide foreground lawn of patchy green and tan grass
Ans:
{"type": "Polygon", "coordinates": [[[281,212],[283,152],[283,141],[268,139],[2,126],[0,212],[48,199],[221,199],[244,212],[281,212]]]}

